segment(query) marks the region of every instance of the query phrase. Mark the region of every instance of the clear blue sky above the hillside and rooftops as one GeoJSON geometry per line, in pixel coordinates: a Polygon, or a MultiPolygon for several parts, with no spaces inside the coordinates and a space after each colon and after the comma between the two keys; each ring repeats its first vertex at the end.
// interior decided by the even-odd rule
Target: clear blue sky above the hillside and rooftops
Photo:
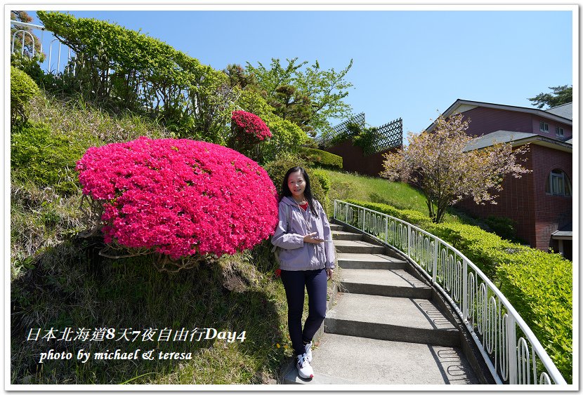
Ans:
{"type": "Polygon", "coordinates": [[[570,11],[70,12],[141,29],[215,69],[298,57],[341,70],[353,59],[353,112],[371,126],[402,117],[405,133],[457,98],[533,107],[527,98],[573,79],[570,11]]]}

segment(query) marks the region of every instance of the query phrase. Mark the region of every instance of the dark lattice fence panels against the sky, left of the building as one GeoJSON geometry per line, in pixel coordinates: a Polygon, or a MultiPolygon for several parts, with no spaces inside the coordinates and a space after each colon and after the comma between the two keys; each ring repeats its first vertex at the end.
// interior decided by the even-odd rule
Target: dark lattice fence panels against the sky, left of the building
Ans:
{"type": "MultiPolygon", "coordinates": [[[[318,145],[326,149],[339,142],[338,138],[341,136],[350,138],[351,130],[348,130],[350,123],[358,125],[362,130],[365,128],[365,113],[361,112],[353,116],[353,118],[334,126],[332,133],[323,135],[317,140],[318,145]]],[[[385,123],[383,126],[379,126],[379,128],[373,128],[371,133],[374,136],[372,139],[372,147],[367,149],[367,152],[364,152],[365,155],[374,154],[393,147],[400,147],[402,144],[402,119],[395,119],[394,121],[385,123]]]]}

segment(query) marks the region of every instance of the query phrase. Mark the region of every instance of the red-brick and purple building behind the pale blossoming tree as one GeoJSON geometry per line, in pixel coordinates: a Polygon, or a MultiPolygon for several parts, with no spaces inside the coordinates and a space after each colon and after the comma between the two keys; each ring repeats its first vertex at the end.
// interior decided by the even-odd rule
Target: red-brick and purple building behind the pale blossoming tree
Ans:
{"type": "Polygon", "coordinates": [[[443,115],[455,113],[471,119],[466,132],[476,140],[468,149],[530,144],[523,166],[532,170],[522,178],[507,177],[496,205],[466,199],[459,208],[477,217],[509,217],[530,246],[552,248],[572,260],[572,103],[542,110],[456,100],[443,115]]]}

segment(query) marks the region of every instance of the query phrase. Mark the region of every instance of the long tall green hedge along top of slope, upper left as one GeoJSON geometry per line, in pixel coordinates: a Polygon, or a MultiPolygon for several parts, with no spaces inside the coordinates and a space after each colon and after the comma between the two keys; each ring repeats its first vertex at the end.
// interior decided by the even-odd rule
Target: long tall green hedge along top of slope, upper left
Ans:
{"type": "Polygon", "coordinates": [[[103,20],[38,11],[46,29],[72,48],[75,75],[67,67],[46,88],[114,112],[146,112],[183,138],[222,144],[234,99],[227,76],[167,43],[103,20]],[[109,70],[108,78],[103,78],[109,70]]]}

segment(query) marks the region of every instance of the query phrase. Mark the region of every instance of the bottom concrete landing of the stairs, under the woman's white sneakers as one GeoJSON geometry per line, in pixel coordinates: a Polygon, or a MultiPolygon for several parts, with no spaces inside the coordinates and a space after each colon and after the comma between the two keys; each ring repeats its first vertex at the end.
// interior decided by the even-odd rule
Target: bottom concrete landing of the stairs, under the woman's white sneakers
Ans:
{"type": "Polygon", "coordinates": [[[480,384],[461,349],[327,333],[313,350],[314,378],[286,384],[480,384]]]}

